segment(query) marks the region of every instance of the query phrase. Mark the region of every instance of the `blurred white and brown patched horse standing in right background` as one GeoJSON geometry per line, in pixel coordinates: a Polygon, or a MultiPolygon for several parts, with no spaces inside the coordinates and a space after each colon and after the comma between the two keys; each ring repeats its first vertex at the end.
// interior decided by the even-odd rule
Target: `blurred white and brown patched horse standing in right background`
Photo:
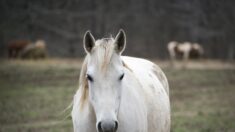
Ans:
{"type": "Polygon", "coordinates": [[[173,66],[177,57],[181,57],[184,61],[184,66],[186,66],[189,59],[200,58],[204,54],[202,46],[198,43],[171,41],[168,43],[167,49],[173,66]]]}

